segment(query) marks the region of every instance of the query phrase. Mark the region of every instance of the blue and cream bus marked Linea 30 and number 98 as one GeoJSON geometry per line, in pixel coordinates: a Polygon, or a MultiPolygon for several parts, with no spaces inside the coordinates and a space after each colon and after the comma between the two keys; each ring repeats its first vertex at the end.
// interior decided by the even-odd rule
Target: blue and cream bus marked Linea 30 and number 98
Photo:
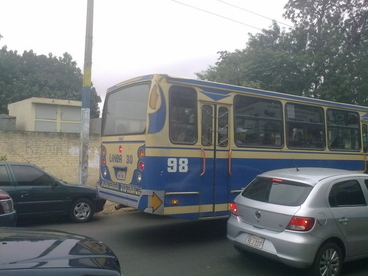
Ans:
{"type": "Polygon", "coordinates": [[[107,89],[98,195],[146,213],[227,218],[256,175],[366,171],[368,108],[170,75],[107,89]]]}

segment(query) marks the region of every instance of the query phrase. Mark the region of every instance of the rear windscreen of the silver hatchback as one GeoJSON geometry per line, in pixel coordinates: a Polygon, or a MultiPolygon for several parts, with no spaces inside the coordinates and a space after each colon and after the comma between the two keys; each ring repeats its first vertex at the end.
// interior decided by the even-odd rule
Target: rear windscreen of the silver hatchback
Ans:
{"type": "Polygon", "coordinates": [[[303,204],[313,186],[299,182],[256,178],[241,193],[242,196],[271,204],[299,206],[303,204]]]}

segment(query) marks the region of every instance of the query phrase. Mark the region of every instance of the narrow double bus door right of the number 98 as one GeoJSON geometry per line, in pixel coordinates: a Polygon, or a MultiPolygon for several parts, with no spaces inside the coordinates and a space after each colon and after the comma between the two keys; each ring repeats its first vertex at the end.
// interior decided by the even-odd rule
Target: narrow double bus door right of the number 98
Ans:
{"type": "Polygon", "coordinates": [[[199,189],[199,217],[228,216],[229,106],[201,104],[203,170],[199,189]]]}

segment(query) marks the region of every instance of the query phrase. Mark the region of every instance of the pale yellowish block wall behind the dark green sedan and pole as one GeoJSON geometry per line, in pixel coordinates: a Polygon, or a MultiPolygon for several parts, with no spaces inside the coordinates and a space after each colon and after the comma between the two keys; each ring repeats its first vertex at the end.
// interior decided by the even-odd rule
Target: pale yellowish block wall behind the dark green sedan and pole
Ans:
{"type": "MultiPolygon", "coordinates": [[[[59,179],[76,184],[79,180],[78,133],[0,131],[0,156],[8,162],[35,164],[59,179]]],[[[87,184],[99,181],[100,136],[89,135],[87,184]]]]}

